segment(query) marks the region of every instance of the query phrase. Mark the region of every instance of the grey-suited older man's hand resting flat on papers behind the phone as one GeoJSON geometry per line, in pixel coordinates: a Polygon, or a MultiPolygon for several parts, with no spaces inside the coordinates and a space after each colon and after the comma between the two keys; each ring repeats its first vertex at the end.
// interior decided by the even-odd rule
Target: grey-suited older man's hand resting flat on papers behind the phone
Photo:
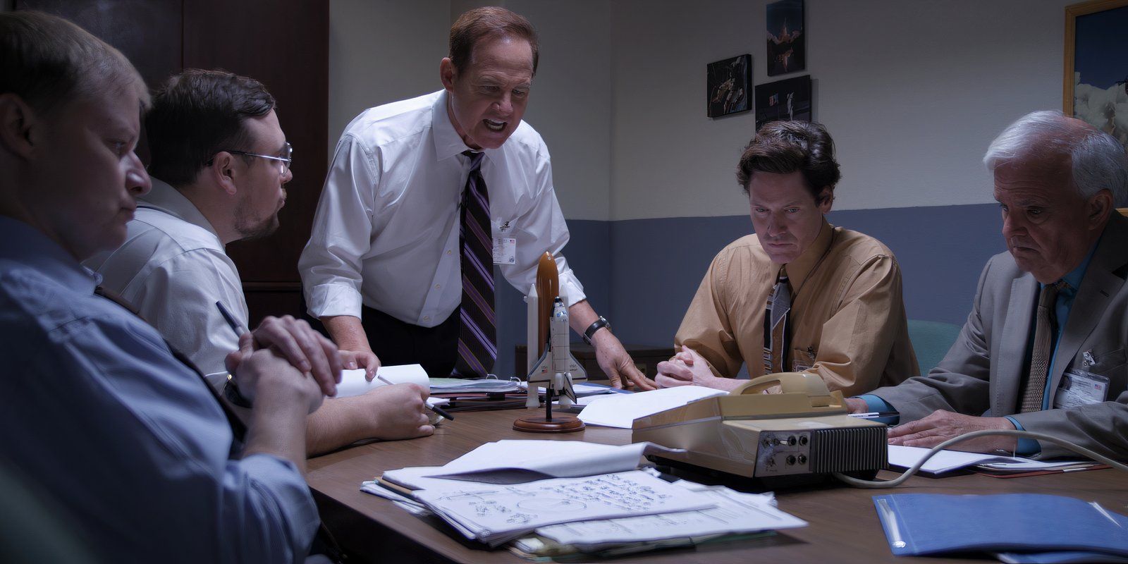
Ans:
{"type": "MultiPolygon", "coordinates": [[[[865,402],[862,403],[864,404],[865,402]]],[[[932,448],[953,437],[985,429],[1006,429],[1013,431],[1014,424],[1006,417],[976,417],[937,409],[927,417],[890,429],[889,443],[902,447],[932,448]]],[[[1016,448],[1017,439],[1003,435],[980,437],[951,447],[952,450],[967,450],[970,452],[992,452],[994,450],[1013,452],[1016,448]]]]}

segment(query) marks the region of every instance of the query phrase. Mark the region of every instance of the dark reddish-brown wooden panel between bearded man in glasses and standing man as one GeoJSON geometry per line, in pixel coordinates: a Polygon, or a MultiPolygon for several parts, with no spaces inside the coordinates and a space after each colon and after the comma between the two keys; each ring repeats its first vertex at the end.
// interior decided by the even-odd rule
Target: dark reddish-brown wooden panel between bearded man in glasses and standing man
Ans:
{"type": "MultiPolygon", "coordinates": [[[[298,256],[328,162],[328,10],[319,0],[193,0],[184,7],[184,67],[222,68],[262,81],[277,99],[282,130],[294,147],[282,227],[228,246],[247,289],[300,280],[298,256]]],[[[275,312],[252,306],[253,318],[275,312]]]]}

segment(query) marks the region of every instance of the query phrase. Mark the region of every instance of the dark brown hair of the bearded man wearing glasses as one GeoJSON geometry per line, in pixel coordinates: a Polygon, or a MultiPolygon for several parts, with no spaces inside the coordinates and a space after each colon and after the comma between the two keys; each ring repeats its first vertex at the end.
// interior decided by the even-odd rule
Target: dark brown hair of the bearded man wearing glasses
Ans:
{"type": "Polygon", "coordinates": [[[271,109],[274,97],[255,79],[222,70],[174,74],[146,116],[149,174],[176,187],[192,184],[217,152],[250,150],[244,121],[271,109]]]}

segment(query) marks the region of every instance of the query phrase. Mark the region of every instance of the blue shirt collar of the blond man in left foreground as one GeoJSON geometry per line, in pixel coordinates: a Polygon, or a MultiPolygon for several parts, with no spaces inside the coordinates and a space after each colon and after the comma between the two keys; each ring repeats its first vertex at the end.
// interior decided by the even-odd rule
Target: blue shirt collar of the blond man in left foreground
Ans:
{"type": "Polygon", "coordinates": [[[102,276],[79,264],[38,229],[3,215],[0,215],[0,258],[23,263],[83,294],[92,294],[102,281],[102,276]]]}

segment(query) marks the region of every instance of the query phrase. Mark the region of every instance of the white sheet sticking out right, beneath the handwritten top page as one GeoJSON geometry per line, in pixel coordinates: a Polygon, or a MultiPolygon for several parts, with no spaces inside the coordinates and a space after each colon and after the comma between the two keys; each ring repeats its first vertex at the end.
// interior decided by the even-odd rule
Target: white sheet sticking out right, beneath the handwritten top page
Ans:
{"type": "Polygon", "coordinates": [[[772,494],[740,493],[728,487],[694,488],[715,508],[655,515],[550,525],[537,535],[563,545],[592,546],[807,527],[807,521],[776,509],[772,494]]]}

